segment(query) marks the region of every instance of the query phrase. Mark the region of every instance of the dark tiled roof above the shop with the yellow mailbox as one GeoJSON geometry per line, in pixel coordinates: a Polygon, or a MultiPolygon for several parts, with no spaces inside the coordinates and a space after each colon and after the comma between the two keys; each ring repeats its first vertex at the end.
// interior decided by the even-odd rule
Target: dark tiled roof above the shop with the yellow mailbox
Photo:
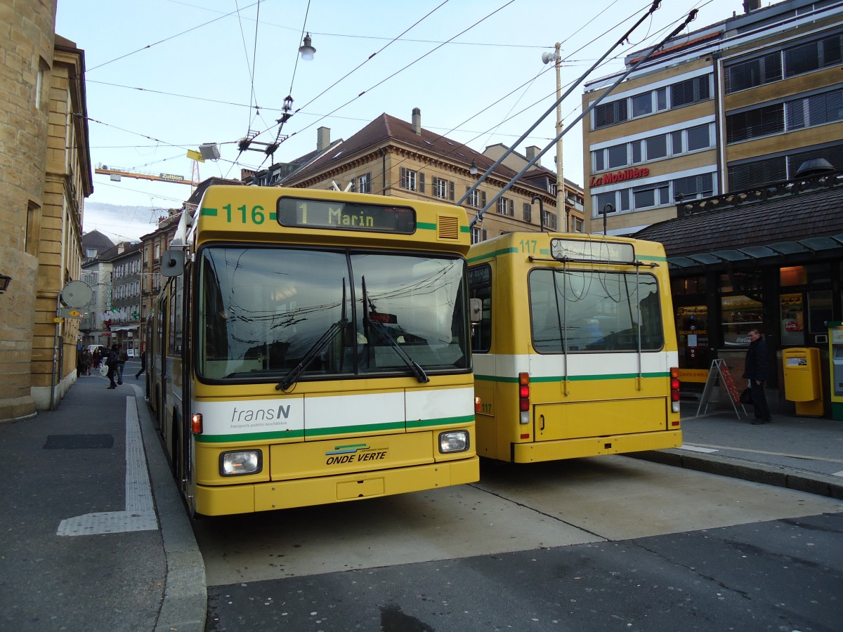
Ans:
{"type": "MultiPolygon", "coordinates": [[[[751,192],[754,194],[754,191],[751,192]]],[[[652,224],[636,238],[664,244],[668,257],[843,235],[843,181],[771,200],[748,195],[726,205],[652,224]]]]}

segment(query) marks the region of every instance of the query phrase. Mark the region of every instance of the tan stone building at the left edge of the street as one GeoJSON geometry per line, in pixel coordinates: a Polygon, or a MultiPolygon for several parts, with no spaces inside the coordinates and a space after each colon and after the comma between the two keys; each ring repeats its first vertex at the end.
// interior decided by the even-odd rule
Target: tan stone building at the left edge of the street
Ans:
{"type": "Polygon", "coordinates": [[[76,378],[78,319],[55,322],[80,278],[93,192],[84,53],[55,35],[56,3],[11,0],[0,75],[0,420],[49,409],[76,378]]]}

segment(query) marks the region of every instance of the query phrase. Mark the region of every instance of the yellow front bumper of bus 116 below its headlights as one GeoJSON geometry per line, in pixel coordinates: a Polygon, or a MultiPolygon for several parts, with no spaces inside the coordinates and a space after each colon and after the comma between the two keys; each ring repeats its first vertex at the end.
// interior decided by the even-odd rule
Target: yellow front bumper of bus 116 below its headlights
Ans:
{"type": "Polygon", "coordinates": [[[474,456],[459,461],[365,474],[339,474],[255,485],[199,485],[194,496],[194,511],[203,516],[225,516],[291,509],[462,485],[479,479],[480,459],[474,456]]]}

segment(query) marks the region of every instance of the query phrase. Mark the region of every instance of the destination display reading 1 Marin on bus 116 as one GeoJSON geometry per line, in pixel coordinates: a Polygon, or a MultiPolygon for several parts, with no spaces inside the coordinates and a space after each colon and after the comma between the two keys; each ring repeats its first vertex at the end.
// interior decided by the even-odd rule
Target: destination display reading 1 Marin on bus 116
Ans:
{"type": "Polygon", "coordinates": [[[408,206],[380,206],[360,202],[278,200],[278,223],[288,228],[334,228],[376,233],[416,232],[416,212],[408,206]]]}

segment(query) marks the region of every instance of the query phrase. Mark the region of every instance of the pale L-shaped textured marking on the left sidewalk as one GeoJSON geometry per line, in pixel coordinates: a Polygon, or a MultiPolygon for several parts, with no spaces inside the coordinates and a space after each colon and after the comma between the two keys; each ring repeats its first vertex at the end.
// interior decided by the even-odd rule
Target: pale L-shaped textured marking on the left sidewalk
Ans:
{"type": "Polygon", "coordinates": [[[126,397],[126,511],[100,511],[66,518],[56,535],[96,535],[158,529],[134,397],[126,397]]]}

